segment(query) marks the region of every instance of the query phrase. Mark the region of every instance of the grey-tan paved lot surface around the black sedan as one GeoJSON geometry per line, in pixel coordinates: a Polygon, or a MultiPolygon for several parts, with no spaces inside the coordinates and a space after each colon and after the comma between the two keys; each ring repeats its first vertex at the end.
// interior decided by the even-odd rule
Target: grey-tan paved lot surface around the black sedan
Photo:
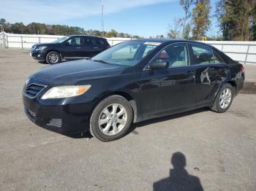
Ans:
{"type": "Polygon", "coordinates": [[[26,51],[0,49],[0,190],[256,190],[256,66],[245,66],[246,88],[229,112],[142,122],[110,143],[62,136],[25,117],[23,84],[45,66],[26,51]]]}

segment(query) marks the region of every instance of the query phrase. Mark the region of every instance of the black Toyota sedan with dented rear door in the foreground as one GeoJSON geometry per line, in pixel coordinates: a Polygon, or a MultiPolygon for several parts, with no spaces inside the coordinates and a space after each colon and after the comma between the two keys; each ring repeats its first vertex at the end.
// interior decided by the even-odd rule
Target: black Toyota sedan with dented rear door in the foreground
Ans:
{"type": "Polygon", "coordinates": [[[243,85],[244,67],[211,45],[141,39],[37,71],[23,104],[43,128],[113,141],[132,122],[206,106],[226,112],[243,85]]]}

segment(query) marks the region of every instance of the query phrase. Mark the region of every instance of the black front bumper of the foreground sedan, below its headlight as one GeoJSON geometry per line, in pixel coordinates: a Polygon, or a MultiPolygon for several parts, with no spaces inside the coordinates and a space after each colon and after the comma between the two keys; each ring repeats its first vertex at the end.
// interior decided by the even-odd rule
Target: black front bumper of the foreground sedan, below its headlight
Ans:
{"type": "Polygon", "coordinates": [[[41,103],[39,98],[23,95],[24,112],[29,120],[42,128],[62,134],[81,133],[88,131],[92,104],[64,104],[69,102],[50,101],[41,103]],[[50,104],[49,104],[50,103],[50,104]]]}

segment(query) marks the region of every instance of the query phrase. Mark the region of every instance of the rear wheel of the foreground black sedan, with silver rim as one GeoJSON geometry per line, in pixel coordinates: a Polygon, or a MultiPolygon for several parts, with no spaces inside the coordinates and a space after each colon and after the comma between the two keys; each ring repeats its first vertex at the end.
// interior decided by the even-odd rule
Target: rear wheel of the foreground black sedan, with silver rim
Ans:
{"type": "Polygon", "coordinates": [[[217,94],[214,105],[210,107],[211,111],[217,113],[227,112],[233,102],[234,95],[234,87],[230,84],[224,84],[217,94]]]}

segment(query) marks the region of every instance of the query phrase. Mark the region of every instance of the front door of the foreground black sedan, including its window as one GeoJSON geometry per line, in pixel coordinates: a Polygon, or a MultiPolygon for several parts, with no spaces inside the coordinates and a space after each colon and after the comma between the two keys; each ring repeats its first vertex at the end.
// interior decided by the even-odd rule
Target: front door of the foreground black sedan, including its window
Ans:
{"type": "MultiPolygon", "coordinates": [[[[170,44],[151,61],[168,61],[168,69],[144,70],[141,81],[143,115],[187,109],[194,104],[195,71],[185,43],[170,44]]],[[[149,63],[150,65],[150,63],[149,63]]]]}

